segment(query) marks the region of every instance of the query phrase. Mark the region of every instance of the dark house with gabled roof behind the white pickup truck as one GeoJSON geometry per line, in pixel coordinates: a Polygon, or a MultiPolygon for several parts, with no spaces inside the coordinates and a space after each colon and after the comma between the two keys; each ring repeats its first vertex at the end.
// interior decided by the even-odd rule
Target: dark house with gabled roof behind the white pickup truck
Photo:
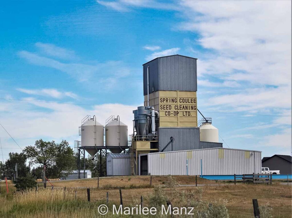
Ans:
{"type": "Polygon", "coordinates": [[[292,174],[292,156],[275,154],[262,159],[262,167],[280,170],[280,174],[292,174]]]}

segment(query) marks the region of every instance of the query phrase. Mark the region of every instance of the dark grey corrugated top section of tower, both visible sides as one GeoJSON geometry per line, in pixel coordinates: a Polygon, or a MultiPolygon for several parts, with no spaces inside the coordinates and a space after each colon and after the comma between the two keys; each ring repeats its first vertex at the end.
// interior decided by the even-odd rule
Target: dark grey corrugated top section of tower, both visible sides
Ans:
{"type": "Polygon", "coordinates": [[[143,64],[144,95],[147,95],[147,67],[149,93],[164,91],[197,91],[197,59],[181,55],[156,58],[143,64]]]}

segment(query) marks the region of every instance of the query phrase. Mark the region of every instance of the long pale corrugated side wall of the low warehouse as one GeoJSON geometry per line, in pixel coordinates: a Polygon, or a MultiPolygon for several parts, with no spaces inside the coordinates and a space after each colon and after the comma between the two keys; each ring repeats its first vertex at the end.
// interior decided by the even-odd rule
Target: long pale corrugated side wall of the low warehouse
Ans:
{"type": "Polygon", "coordinates": [[[261,152],[214,148],[148,154],[148,172],[151,175],[233,175],[261,172],[261,152]],[[161,157],[161,154],[163,154],[161,157]]]}

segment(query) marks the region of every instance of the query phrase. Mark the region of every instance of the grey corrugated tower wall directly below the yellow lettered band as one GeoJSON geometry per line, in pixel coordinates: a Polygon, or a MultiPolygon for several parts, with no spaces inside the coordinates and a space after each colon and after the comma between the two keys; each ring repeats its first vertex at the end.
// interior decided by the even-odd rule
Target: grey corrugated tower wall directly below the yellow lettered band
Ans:
{"type": "MultiPolygon", "coordinates": [[[[199,149],[199,128],[158,128],[159,151],[174,138],[173,151],[199,149]]],[[[171,144],[164,150],[171,151],[171,144]]]]}

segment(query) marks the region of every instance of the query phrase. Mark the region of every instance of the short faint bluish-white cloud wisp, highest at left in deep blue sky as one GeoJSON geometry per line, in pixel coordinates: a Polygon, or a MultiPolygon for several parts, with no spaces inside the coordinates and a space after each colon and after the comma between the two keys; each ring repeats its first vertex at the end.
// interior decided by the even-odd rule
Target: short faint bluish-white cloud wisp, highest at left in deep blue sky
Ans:
{"type": "Polygon", "coordinates": [[[41,52],[52,57],[59,57],[62,59],[73,59],[76,58],[73,50],[61,48],[50,43],[35,43],[35,46],[41,50],[41,52]]]}

